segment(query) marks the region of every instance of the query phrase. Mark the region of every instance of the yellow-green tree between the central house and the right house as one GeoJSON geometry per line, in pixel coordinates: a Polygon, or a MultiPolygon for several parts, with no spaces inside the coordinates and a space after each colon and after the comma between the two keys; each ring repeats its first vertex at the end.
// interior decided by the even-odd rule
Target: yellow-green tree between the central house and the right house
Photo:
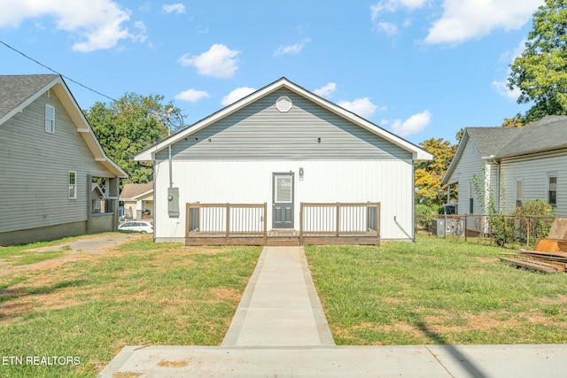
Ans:
{"type": "Polygon", "coordinates": [[[416,163],[416,202],[439,209],[447,203],[447,185],[441,185],[441,179],[451,164],[456,145],[443,138],[431,138],[419,145],[434,158],[416,163]]]}

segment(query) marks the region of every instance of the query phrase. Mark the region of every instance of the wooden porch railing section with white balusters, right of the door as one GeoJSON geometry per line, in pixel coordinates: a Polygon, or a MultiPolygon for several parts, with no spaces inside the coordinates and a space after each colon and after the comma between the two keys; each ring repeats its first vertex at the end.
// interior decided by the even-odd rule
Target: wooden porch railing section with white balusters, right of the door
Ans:
{"type": "Polygon", "coordinates": [[[380,203],[301,203],[299,240],[306,236],[380,237],[380,203]]]}

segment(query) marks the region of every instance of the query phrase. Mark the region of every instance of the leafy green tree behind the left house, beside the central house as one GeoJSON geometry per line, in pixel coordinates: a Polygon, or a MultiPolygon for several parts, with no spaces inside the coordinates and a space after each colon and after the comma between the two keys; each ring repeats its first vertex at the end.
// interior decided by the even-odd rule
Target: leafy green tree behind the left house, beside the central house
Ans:
{"type": "Polygon", "coordinates": [[[163,96],[127,93],[111,104],[96,103],[84,111],[106,155],[129,175],[124,182],[152,179],[151,167],[132,158],[166,137],[168,116],[172,111],[179,114],[172,104],[162,102],[163,96]]]}

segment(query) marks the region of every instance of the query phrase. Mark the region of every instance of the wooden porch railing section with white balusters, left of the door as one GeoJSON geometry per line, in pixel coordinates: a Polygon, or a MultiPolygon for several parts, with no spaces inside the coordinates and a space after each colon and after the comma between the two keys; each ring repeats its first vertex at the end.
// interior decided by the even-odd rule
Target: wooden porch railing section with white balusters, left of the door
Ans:
{"type": "Polygon", "coordinates": [[[227,243],[232,236],[268,236],[267,204],[187,204],[185,237],[223,235],[227,243]]]}

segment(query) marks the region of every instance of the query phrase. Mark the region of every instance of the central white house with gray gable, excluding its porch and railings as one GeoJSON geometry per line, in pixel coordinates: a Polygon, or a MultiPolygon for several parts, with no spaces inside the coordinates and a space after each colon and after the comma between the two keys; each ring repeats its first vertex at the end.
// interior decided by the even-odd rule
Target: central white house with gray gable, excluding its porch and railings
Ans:
{"type": "Polygon", "coordinates": [[[268,228],[296,230],[300,203],[379,202],[381,239],[408,240],[394,217],[413,237],[414,162],[431,158],[285,78],[135,157],[154,166],[158,242],[183,242],[196,202],[267,203],[268,228]]]}

